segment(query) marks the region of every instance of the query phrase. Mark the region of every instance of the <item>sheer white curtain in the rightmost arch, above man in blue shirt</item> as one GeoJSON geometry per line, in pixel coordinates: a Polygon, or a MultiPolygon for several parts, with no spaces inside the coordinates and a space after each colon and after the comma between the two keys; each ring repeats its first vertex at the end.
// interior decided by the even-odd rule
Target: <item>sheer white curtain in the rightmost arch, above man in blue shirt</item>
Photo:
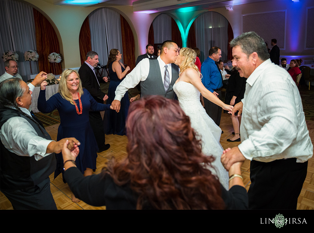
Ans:
{"type": "Polygon", "coordinates": [[[195,19],[196,47],[201,51],[201,62],[208,57],[211,47],[221,48],[221,60],[228,54],[228,20],[217,12],[206,12],[195,19]]]}

